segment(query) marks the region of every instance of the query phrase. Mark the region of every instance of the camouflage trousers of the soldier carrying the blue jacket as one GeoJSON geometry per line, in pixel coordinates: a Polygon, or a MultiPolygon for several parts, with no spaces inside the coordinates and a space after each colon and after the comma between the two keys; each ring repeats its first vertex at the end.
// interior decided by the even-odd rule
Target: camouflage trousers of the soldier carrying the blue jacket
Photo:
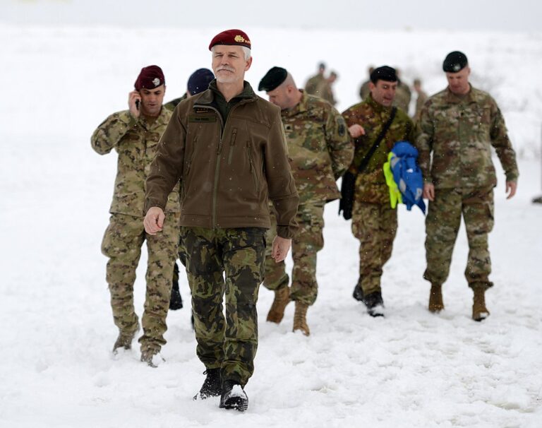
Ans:
{"type": "Polygon", "coordinates": [[[397,210],[390,203],[366,203],[356,199],[352,208],[352,233],[359,239],[358,285],[364,295],[381,291],[383,267],[392,256],[397,233],[397,210]]]}

